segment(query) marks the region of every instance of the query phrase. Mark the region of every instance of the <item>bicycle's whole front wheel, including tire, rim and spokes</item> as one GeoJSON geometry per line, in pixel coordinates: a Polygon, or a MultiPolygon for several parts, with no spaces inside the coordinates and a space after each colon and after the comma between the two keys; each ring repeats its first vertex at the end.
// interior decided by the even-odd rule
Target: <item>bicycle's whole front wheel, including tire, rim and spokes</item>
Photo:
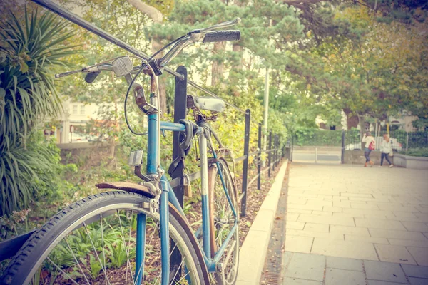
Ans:
{"type": "Polygon", "coordinates": [[[63,209],[24,244],[2,284],[205,284],[198,255],[171,214],[170,249],[181,262],[171,266],[168,283],[161,280],[159,214],[142,209],[146,202],[135,193],[106,192],[63,209]]]}

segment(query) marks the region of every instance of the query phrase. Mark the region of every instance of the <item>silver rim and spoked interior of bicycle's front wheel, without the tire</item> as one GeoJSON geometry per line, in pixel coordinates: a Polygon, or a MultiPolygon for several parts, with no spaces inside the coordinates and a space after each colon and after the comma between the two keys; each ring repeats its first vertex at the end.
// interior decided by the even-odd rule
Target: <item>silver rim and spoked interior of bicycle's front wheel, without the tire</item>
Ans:
{"type": "MultiPolygon", "coordinates": [[[[40,279],[51,284],[113,284],[115,278],[121,284],[123,280],[125,284],[135,284],[136,214],[148,217],[143,283],[162,284],[159,214],[150,214],[137,203],[100,207],[70,224],[34,262],[24,284],[38,284],[40,279]]],[[[187,284],[185,280],[199,284],[191,253],[171,225],[170,238],[175,242],[171,252],[179,250],[183,258],[178,268],[171,269],[169,284],[187,284]]]]}

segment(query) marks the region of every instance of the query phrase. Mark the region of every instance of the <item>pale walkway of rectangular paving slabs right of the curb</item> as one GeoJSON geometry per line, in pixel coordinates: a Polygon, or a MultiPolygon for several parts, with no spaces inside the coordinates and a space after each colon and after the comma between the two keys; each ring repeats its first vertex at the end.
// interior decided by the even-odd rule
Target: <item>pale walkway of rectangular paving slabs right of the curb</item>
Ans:
{"type": "Polygon", "coordinates": [[[428,172],[293,163],[285,251],[287,285],[428,284],[428,172]]]}

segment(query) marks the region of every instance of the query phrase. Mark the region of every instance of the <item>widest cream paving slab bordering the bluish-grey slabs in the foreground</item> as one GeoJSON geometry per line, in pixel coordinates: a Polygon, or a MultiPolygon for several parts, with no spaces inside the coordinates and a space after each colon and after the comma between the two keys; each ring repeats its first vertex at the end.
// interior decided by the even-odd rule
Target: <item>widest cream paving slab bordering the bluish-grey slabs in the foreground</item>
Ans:
{"type": "Polygon", "coordinates": [[[332,257],[378,260],[373,244],[367,242],[340,241],[315,237],[311,253],[332,257]]]}

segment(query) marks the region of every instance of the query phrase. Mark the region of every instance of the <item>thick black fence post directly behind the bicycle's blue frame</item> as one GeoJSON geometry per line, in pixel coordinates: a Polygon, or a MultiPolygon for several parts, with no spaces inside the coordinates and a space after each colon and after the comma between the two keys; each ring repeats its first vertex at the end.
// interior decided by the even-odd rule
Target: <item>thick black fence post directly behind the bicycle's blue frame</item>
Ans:
{"type": "MultiPolygon", "coordinates": [[[[178,66],[177,72],[183,74],[184,78],[180,79],[175,77],[175,97],[174,97],[174,123],[178,123],[179,120],[185,119],[186,112],[186,96],[187,96],[187,69],[185,66],[178,66]]],[[[180,156],[180,133],[174,132],[173,135],[173,160],[175,157],[180,156]]],[[[173,188],[175,196],[180,203],[180,206],[183,207],[183,197],[184,197],[184,185],[183,185],[183,163],[179,163],[178,167],[175,168],[174,172],[171,173],[171,178],[175,179],[180,177],[180,185],[173,188]]],[[[174,247],[175,243],[171,239],[171,249],[174,247]]],[[[178,250],[174,250],[170,255],[170,264],[171,266],[180,266],[181,263],[181,254],[178,250]]]]}

